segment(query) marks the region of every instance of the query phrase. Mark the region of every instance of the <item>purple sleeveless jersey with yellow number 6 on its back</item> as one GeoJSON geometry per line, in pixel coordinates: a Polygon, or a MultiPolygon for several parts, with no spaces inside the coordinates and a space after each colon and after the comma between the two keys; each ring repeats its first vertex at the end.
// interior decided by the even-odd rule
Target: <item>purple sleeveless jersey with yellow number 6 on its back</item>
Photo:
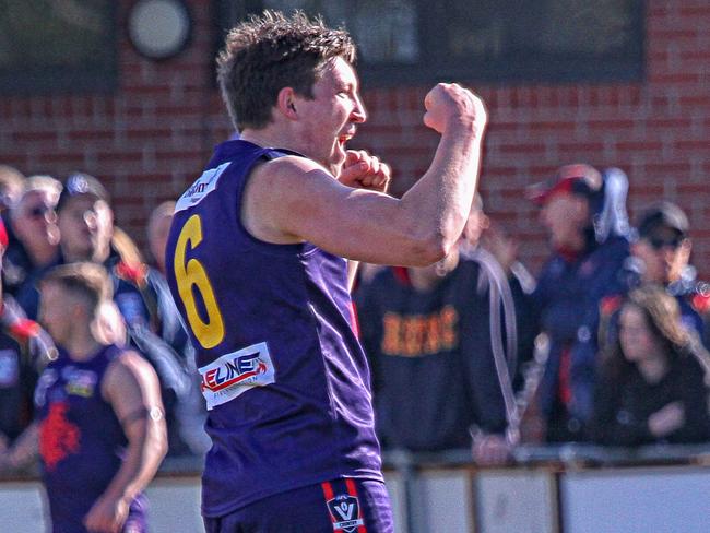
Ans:
{"type": "Polygon", "coordinates": [[[240,223],[249,171],[282,155],[220,145],[180,197],[168,239],[167,277],[209,408],[206,517],[341,476],[382,479],[346,261],[263,242],[240,223]]]}

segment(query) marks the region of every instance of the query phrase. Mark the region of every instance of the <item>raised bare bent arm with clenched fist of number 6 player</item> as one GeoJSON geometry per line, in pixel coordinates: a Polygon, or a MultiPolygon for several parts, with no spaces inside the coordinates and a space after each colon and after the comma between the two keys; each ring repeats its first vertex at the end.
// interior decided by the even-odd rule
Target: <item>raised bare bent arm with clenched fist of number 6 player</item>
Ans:
{"type": "Polygon", "coordinates": [[[269,242],[307,240],[371,263],[424,265],[445,257],[471,209],[486,111],[457,84],[434,87],[425,107],[424,123],[441,139],[429,169],[401,200],[344,186],[310,159],[282,157],[255,169],[246,227],[269,242]]]}

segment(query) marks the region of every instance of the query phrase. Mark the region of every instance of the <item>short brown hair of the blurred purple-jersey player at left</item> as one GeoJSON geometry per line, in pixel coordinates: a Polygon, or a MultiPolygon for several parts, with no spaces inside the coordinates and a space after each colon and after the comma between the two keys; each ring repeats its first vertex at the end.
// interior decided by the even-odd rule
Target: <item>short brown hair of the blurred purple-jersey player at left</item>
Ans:
{"type": "Polygon", "coordinates": [[[96,311],[114,294],[106,269],[97,263],[79,262],[61,264],[51,269],[43,279],[43,285],[56,283],[63,289],[84,299],[96,311]]]}

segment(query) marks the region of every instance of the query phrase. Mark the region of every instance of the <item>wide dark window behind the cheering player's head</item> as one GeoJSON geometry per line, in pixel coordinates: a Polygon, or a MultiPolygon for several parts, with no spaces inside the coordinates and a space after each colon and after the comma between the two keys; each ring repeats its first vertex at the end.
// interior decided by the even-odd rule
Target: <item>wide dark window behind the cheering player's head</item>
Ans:
{"type": "Polygon", "coordinates": [[[344,25],[368,85],[643,74],[642,0],[221,0],[217,20],[224,31],[264,8],[344,25]]]}

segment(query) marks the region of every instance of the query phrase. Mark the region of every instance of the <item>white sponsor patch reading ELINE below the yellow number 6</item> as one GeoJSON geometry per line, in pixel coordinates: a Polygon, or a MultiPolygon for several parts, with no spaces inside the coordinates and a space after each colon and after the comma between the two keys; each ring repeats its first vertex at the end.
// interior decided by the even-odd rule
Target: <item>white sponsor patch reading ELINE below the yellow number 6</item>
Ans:
{"type": "Polygon", "coordinates": [[[253,387],[273,383],[275,370],[265,342],[225,354],[200,370],[200,389],[208,411],[234,400],[253,387]]]}

